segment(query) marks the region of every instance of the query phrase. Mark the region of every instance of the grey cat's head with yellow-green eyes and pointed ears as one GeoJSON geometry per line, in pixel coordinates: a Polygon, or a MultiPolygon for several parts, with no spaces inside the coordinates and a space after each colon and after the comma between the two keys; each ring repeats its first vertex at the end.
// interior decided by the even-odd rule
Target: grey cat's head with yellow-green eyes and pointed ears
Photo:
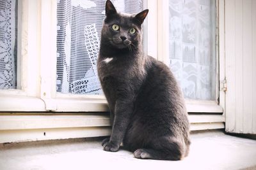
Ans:
{"type": "Polygon", "coordinates": [[[106,1],[106,18],[102,27],[102,38],[115,48],[138,46],[142,41],[141,25],[148,10],[136,15],[119,13],[111,1],[106,1]]]}

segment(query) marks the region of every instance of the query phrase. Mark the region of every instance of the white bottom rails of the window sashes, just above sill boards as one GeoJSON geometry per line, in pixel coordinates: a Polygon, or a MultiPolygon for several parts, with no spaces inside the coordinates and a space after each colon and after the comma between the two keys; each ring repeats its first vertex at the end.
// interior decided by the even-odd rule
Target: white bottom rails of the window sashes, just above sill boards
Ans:
{"type": "MultiPolygon", "coordinates": [[[[0,96],[0,111],[54,111],[54,112],[88,112],[109,111],[104,97],[63,97],[48,99],[47,102],[37,97],[0,96]],[[46,104],[46,107],[45,107],[46,104]],[[51,110],[46,110],[51,104],[51,110]]],[[[214,101],[188,101],[186,107],[189,113],[223,113],[223,108],[214,101]]]]}

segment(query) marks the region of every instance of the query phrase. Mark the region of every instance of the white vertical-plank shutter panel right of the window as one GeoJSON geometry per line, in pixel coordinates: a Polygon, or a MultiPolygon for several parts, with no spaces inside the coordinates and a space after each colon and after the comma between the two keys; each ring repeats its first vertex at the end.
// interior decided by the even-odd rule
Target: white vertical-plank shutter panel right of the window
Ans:
{"type": "Polygon", "coordinates": [[[256,134],[256,1],[225,1],[226,131],[256,134]]]}

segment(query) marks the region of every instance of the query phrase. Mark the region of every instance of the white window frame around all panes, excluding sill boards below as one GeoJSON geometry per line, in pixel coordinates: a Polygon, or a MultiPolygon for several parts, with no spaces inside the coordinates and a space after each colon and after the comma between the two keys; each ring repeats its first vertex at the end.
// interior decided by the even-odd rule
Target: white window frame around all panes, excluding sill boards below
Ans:
{"type": "MultiPolygon", "coordinates": [[[[216,15],[220,10],[218,2],[216,0],[216,15]]],[[[145,1],[143,7],[150,10],[144,25],[145,51],[148,55],[166,63],[169,50],[168,36],[166,36],[168,23],[164,20],[168,17],[168,0],[145,1]]],[[[20,90],[0,90],[0,100],[4,101],[4,104],[0,105],[0,111],[108,111],[104,96],[56,92],[57,0],[23,0],[21,8],[20,69],[18,67],[20,90]]],[[[216,27],[218,27],[218,18],[216,27]]],[[[217,39],[216,42],[218,46],[217,39]]],[[[218,62],[218,55],[216,60],[218,62]]],[[[221,74],[218,73],[218,64],[216,70],[219,78],[221,74]]],[[[216,83],[216,96],[219,92],[216,83]]],[[[223,101],[221,98],[223,95],[220,94],[220,101],[223,101]]],[[[218,99],[216,101],[186,99],[186,106],[191,113],[223,113],[223,107],[218,103],[218,99]]]]}

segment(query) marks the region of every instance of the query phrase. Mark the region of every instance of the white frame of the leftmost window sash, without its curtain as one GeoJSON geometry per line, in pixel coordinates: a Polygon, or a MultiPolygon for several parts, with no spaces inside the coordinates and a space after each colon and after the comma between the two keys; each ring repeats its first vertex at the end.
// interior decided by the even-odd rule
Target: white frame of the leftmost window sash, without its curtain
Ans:
{"type": "Polygon", "coordinates": [[[17,89],[0,90],[0,111],[45,111],[38,97],[40,74],[36,69],[40,67],[38,6],[39,1],[18,0],[17,89]]]}

